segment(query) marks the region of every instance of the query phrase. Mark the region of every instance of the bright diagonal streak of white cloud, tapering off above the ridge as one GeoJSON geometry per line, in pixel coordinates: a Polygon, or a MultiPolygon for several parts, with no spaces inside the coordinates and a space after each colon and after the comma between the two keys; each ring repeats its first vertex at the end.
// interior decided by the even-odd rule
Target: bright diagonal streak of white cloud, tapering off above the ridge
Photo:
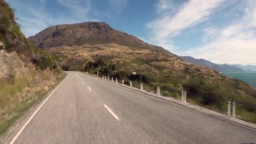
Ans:
{"type": "MultiPolygon", "coordinates": [[[[165,3],[160,0],[161,11],[165,9],[165,3]]],[[[166,1],[166,0],[165,0],[166,1]]],[[[189,0],[174,15],[163,13],[160,18],[151,21],[147,27],[155,35],[154,40],[163,40],[179,34],[182,30],[199,24],[209,18],[213,9],[219,6],[223,0],[189,0]]]]}

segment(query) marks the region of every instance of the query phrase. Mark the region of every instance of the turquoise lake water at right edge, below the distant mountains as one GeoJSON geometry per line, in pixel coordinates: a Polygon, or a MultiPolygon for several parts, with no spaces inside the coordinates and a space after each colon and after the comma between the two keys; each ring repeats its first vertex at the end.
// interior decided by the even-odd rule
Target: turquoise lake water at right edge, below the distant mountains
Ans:
{"type": "Polygon", "coordinates": [[[256,88],[256,72],[223,72],[222,74],[242,80],[256,88]]]}

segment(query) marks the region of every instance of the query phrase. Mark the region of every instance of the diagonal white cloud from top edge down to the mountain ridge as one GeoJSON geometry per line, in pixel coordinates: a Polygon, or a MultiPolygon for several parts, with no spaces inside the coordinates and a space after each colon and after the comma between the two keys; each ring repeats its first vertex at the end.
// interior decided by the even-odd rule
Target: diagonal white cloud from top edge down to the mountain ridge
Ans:
{"type": "Polygon", "coordinates": [[[150,43],[159,45],[173,51],[172,38],[178,35],[182,30],[192,27],[196,24],[207,20],[214,8],[221,5],[224,0],[189,0],[184,3],[179,10],[173,9],[176,5],[168,5],[168,0],[159,0],[157,4],[157,12],[160,13],[159,18],[147,24],[153,35],[150,43]],[[164,11],[164,10],[168,11],[164,11]]]}

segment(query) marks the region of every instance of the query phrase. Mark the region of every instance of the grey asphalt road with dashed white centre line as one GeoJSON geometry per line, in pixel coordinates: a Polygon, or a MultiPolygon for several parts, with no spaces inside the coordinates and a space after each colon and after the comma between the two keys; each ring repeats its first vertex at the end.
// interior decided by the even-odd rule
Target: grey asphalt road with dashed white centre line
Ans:
{"type": "Polygon", "coordinates": [[[241,144],[256,143],[256,132],[68,72],[14,143],[241,144]]]}

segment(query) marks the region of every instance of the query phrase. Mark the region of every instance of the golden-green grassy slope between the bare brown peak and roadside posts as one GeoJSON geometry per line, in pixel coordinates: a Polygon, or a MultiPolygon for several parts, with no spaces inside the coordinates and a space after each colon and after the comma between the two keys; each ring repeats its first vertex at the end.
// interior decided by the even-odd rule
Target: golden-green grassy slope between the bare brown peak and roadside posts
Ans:
{"type": "Polygon", "coordinates": [[[186,90],[190,103],[219,112],[227,112],[227,99],[236,101],[237,104],[242,104],[237,105],[237,115],[256,123],[256,108],[251,106],[256,105],[255,89],[240,80],[226,77],[211,69],[196,67],[201,69],[201,72],[188,72],[183,69],[187,63],[179,59],[169,58],[163,53],[148,54],[150,51],[134,51],[115,44],[64,46],[51,48],[48,51],[63,57],[62,67],[91,73],[99,70],[100,75],[123,78],[126,84],[129,84],[129,80],[134,80],[133,85],[137,87],[142,81],[144,89],[148,91],[156,91],[156,86],[161,86],[164,96],[172,96],[176,99],[181,99],[181,90],[186,90]],[[100,66],[88,64],[88,61],[95,63],[99,58],[104,62],[99,62],[100,66]],[[109,67],[109,63],[115,64],[114,70],[109,67]],[[132,76],[132,72],[138,75],[132,76]]]}

